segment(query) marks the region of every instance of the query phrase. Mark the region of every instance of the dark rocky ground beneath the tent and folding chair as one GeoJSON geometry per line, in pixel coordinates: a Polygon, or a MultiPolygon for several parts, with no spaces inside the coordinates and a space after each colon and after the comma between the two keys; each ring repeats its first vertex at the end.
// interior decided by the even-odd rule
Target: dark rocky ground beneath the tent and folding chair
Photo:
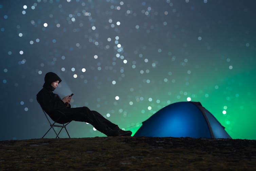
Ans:
{"type": "Polygon", "coordinates": [[[256,170],[256,140],[94,137],[0,141],[0,170],[256,170]]]}

